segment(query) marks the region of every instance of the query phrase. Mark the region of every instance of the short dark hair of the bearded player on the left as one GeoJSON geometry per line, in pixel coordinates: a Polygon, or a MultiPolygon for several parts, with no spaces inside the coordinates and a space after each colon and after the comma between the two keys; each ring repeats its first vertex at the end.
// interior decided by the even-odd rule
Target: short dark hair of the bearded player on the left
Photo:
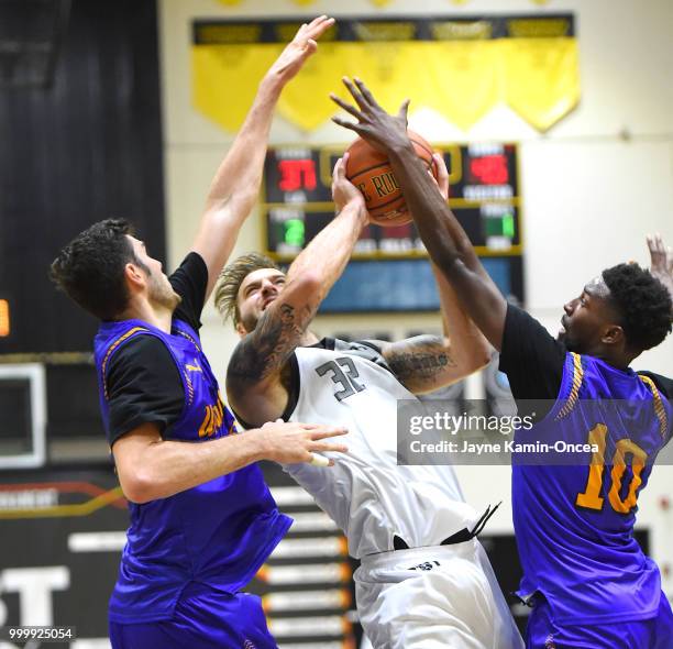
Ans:
{"type": "Polygon", "coordinates": [[[133,227],[123,219],[93,223],[58,253],[49,268],[54,284],[101,320],[112,320],[126,308],[125,265],[146,271],[126,234],[133,234],[133,227]]]}

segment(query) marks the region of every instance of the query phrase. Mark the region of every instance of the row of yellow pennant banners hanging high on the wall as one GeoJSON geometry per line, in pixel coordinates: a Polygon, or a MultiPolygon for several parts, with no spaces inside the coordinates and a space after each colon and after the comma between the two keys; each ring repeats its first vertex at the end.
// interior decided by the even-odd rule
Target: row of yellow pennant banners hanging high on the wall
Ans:
{"type": "MultiPolygon", "coordinates": [[[[265,72],[296,31],[294,23],[199,25],[192,46],[194,103],[228,131],[236,131],[265,72]],[[265,31],[266,30],[266,31],[265,31]],[[272,41],[272,34],[273,41],[272,41]],[[222,44],[227,43],[227,44],[222,44]]],[[[382,106],[411,112],[430,108],[466,131],[499,103],[547,131],[580,100],[578,47],[567,20],[514,19],[494,34],[487,20],[434,21],[415,40],[413,21],[353,23],[350,40],[323,40],[284,90],[279,114],[311,131],[336,111],[329,99],[341,77],[357,76],[382,106]]],[[[333,36],[333,35],[332,35],[333,36]]]]}

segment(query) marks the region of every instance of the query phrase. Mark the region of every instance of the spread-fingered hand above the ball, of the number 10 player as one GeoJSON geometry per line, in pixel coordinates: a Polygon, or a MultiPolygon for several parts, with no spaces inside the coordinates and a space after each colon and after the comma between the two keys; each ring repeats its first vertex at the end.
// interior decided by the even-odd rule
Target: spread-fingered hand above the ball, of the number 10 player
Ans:
{"type": "Polygon", "coordinates": [[[397,116],[391,116],[378,106],[371,90],[357,77],[353,81],[343,77],[342,81],[355,100],[357,108],[347,101],[343,101],[333,92],[330,98],[336,106],[352,114],[357,122],[349,122],[334,117],[332,121],[335,124],[355,131],[372,146],[383,152],[388,152],[396,146],[409,145],[409,136],[407,135],[408,99],[402,102],[397,116]]]}

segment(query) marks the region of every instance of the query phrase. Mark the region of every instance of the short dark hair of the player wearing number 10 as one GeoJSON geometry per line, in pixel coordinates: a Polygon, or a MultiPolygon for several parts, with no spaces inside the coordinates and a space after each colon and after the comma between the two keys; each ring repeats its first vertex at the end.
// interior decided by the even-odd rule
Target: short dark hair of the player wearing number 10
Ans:
{"type": "Polygon", "coordinates": [[[618,264],[603,271],[603,280],[630,348],[649,350],[666,338],[673,314],[671,296],[650,271],[638,264],[618,264]]]}

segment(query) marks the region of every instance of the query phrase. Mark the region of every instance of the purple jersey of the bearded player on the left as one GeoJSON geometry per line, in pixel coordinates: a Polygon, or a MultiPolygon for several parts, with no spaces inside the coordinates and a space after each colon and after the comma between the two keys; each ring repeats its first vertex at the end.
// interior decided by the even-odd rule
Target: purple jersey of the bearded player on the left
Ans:
{"type": "MultiPolygon", "coordinates": [[[[173,321],[170,334],[142,320],[103,322],[95,340],[100,405],[109,426],[107,371],[110,359],[136,336],[163,341],[183,381],[185,405],[163,439],[208,443],[236,433],[198,334],[173,321]]],[[[198,583],[235,593],[245,586],[291,524],[276,504],[256,465],[240,469],[168,498],[129,503],[131,527],[110,619],[140,623],[168,619],[183,590],[198,583]]]]}

